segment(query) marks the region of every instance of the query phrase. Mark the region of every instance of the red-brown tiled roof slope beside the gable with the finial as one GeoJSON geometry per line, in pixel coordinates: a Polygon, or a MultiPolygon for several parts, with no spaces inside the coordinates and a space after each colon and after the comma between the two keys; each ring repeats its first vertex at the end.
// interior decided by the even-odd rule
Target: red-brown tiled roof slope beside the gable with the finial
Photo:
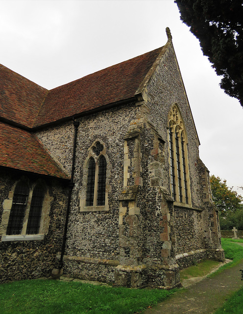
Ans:
{"type": "Polygon", "coordinates": [[[34,126],[135,96],[161,50],[155,49],[50,90],[34,126]]]}

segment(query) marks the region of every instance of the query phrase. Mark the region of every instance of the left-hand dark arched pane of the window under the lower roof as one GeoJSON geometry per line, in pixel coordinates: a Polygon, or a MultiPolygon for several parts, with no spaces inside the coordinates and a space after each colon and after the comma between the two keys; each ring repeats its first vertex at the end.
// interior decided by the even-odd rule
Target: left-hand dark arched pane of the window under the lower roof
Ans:
{"type": "Polygon", "coordinates": [[[17,183],[14,189],[13,203],[9,215],[7,235],[20,235],[23,228],[25,209],[29,189],[23,182],[17,183]]]}

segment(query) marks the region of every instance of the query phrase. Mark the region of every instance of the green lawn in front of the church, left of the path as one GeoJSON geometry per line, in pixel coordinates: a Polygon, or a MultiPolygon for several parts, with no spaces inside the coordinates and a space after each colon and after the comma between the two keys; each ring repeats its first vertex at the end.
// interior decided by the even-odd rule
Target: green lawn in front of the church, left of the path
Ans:
{"type": "Polygon", "coordinates": [[[129,314],[163,301],[173,292],[26,280],[0,285],[0,313],[129,314]]]}

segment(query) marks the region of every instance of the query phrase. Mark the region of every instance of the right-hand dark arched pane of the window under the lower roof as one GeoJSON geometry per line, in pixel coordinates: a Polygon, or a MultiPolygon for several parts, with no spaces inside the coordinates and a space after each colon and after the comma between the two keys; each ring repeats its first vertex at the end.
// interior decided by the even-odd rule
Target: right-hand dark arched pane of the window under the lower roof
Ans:
{"type": "Polygon", "coordinates": [[[39,233],[44,194],[44,189],[40,185],[37,185],[33,190],[26,229],[27,235],[39,233]]]}

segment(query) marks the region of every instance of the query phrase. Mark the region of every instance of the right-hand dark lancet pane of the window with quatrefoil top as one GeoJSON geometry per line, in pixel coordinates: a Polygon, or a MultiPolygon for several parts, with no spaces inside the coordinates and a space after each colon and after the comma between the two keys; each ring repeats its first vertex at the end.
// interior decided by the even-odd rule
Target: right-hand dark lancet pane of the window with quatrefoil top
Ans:
{"type": "Polygon", "coordinates": [[[98,159],[97,206],[105,205],[106,160],[103,155],[98,159]]]}

